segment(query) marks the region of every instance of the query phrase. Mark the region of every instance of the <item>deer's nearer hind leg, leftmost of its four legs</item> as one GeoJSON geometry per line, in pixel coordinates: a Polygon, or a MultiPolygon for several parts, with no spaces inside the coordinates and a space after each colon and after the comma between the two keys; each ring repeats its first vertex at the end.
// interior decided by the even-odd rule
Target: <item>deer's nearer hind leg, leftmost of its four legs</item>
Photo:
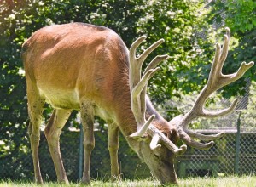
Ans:
{"type": "Polygon", "coordinates": [[[40,98],[38,89],[30,82],[27,82],[27,101],[28,114],[30,117],[28,133],[31,143],[35,182],[38,184],[43,184],[39,165],[38,147],[40,141],[40,125],[42,122],[45,100],[40,98]]]}

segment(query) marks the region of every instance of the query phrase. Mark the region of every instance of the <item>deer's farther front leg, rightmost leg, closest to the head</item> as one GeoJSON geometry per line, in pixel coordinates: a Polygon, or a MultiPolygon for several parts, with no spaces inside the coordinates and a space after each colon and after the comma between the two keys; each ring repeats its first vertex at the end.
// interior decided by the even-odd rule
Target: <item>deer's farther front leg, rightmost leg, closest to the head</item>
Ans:
{"type": "Polygon", "coordinates": [[[115,123],[108,125],[108,150],[111,162],[111,180],[120,180],[118,162],[119,127],[115,123]]]}

